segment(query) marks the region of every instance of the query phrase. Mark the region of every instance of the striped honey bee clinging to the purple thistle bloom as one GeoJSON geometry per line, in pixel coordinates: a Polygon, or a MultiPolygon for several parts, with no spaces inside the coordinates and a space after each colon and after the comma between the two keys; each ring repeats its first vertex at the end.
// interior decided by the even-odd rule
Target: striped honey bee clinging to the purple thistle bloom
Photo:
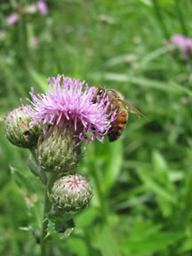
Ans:
{"type": "MultiPolygon", "coordinates": [[[[125,101],[121,93],[112,89],[106,90],[105,87],[102,86],[96,87],[92,97],[92,103],[96,103],[98,99],[101,100],[103,97],[107,96],[110,102],[108,114],[111,113],[113,115],[116,111],[116,119],[111,124],[108,131],[109,142],[117,140],[124,132],[128,120],[128,113],[132,113],[139,117],[142,116],[148,120],[148,118],[142,115],[137,108],[134,108],[130,103],[125,101]]],[[[110,116],[108,118],[110,118],[110,116]]]]}

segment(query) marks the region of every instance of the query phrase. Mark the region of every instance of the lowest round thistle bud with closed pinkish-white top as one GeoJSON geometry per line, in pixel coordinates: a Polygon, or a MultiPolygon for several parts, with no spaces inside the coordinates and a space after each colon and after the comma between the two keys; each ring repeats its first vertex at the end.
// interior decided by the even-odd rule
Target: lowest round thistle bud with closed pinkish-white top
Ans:
{"type": "Polygon", "coordinates": [[[55,212],[78,211],[92,199],[92,187],[79,174],[67,175],[55,181],[50,196],[55,212]]]}

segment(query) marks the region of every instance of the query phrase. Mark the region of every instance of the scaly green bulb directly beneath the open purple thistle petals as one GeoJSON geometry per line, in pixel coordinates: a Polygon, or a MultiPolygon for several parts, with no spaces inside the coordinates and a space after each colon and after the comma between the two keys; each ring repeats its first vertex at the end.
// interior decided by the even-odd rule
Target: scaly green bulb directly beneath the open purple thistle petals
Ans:
{"type": "Polygon", "coordinates": [[[82,157],[81,147],[69,124],[51,125],[39,141],[38,162],[45,172],[68,172],[74,169],[82,157]]]}

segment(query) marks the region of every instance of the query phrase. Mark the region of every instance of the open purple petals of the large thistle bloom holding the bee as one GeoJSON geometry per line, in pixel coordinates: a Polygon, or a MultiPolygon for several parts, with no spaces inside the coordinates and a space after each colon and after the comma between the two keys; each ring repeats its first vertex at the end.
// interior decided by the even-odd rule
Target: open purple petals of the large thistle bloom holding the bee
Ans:
{"type": "Polygon", "coordinates": [[[28,111],[28,116],[34,119],[30,126],[38,122],[43,122],[43,126],[68,122],[80,142],[92,142],[94,136],[102,142],[111,122],[116,119],[116,113],[107,114],[110,108],[108,97],[93,104],[94,87],[89,88],[85,84],[83,92],[84,82],[64,75],[60,86],[60,78],[60,75],[52,77],[53,87],[51,78],[48,78],[49,92],[35,95],[33,88],[29,92],[32,100],[27,100],[34,106],[28,111]]]}

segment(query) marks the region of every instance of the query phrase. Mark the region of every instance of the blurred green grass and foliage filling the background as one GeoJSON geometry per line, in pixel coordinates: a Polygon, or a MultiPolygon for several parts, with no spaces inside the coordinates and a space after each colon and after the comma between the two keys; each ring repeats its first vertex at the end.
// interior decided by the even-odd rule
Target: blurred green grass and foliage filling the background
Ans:
{"type": "Polygon", "coordinates": [[[65,74],[122,92],[150,122],[130,115],[119,140],[85,149],[76,171],[94,196],[68,239],[52,235],[50,255],[191,255],[192,61],[168,43],[192,36],[191,1],[50,0],[47,15],[8,26],[18,4],[28,1],[0,3],[0,254],[39,255],[43,207],[28,151],[4,138],[4,116],[30,87],[44,92],[48,76],[65,74]]]}

